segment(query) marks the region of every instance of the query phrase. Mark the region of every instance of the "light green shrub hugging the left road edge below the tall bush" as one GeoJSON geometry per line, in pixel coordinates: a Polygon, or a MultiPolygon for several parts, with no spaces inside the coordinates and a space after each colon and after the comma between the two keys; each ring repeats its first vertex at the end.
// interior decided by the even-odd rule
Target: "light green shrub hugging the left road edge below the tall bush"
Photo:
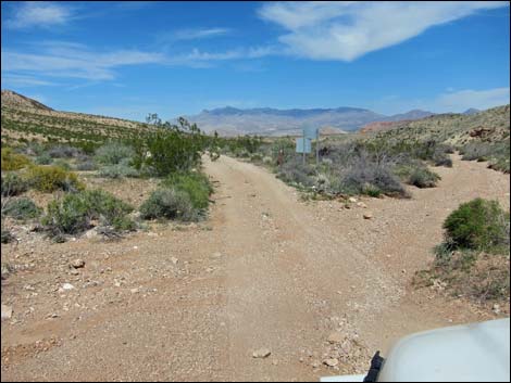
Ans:
{"type": "Polygon", "coordinates": [[[208,176],[199,171],[174,173],[163,181],[163,186],[187,193],[191,205],[197,209],[208,208],[213,192],[208,176]]]}

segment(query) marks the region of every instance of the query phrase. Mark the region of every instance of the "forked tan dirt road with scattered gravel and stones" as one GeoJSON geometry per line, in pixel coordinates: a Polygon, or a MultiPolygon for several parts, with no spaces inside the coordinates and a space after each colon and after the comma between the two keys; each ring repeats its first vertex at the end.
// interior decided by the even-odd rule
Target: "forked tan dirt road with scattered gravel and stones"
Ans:
{"type": "Polygon", "coordinates": [[[2,381],[317,380],[363,372],[409,332],[491,318],[410,280],[459,203],[483,196],[509,208],[509,176],[457,157],[436,169],[438,188],[345,209],[300,202],[233,158],[205,169],[217,182],[205,224],[5,247],[2,260],[29,267],[2,282],[2,304],[14,308],[2,321],[2,381]],[[73,276],[77,256],[86,267],[73,276]],[[64,282],[75,289],[59,291],[64,282]],[[271,355],[253,358],[259,348],[271,355]]]}

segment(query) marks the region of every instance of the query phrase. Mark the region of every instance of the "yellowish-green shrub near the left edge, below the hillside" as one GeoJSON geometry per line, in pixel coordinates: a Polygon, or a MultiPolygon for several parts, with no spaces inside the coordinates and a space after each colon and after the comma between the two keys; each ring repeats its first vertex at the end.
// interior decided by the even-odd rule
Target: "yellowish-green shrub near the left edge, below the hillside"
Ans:
{"type": "Polygon", "coordinates": [[[29,187],[41,192],[84,189],[84,184],[78,180],[76,174],[55,166],[32,166],[24,174],[24,179],[29,187]]]}

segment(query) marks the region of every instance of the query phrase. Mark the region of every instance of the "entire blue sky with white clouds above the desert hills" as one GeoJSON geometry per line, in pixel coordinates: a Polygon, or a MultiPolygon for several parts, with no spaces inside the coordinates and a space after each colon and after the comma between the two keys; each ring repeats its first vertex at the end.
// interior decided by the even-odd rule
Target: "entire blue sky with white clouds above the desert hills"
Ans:
{"type": "Polygon", "coordinates": [[[509,103],[507,2],[2,2],[2,89],[142,120],[509,103]]]}

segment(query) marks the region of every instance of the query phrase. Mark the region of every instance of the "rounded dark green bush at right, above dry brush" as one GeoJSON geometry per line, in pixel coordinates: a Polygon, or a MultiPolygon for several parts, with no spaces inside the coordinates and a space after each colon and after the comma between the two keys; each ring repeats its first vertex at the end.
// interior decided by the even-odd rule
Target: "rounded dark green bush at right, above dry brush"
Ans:
{"type": "Polygon", "coordinates": [[[446,241],[454,247],[491,250],[509,245],[509,214],[497,201],[475,199],[461,204],[444,222],[446,241]]]}

